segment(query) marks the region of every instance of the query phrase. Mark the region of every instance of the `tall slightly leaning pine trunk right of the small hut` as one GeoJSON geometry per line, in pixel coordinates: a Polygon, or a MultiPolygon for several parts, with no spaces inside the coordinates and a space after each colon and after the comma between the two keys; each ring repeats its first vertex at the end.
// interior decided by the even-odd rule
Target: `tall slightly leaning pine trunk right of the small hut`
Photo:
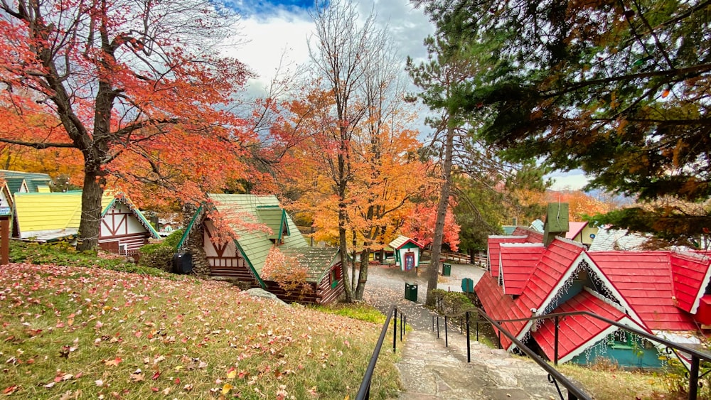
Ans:
{"type": "Polygon", "coordinates": [[[429,262],[427,271],[427,306],[434,306],[432,291],[437,288],[439,275],[439,254],[442,252],[442,237],[444,236],[444,217],[447,215],[449,205],[449,192],[451,189],[451,153],[454,144],[454,128],[447,126],[447,141],[444,144],[444,164],[442,165],[442,193],[439,195],[437,205],[437,222],[434,224],[434,238],[432,239],[432,261],[429,262]]]}

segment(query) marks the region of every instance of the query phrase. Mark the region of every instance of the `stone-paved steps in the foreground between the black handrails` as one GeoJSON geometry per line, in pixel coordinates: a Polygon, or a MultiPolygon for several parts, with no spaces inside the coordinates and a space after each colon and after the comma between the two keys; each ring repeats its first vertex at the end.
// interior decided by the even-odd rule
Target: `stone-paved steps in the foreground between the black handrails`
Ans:
{"type": "Polygon", "coordinates": [[[412,330],[398,346],[397,369],[405,388],[400,399],[560,399],[535,362],[472,340],[468,363],[466,337],[450,331],[445,347],[440,328],[439,339],[437,333],[412,330]]]}

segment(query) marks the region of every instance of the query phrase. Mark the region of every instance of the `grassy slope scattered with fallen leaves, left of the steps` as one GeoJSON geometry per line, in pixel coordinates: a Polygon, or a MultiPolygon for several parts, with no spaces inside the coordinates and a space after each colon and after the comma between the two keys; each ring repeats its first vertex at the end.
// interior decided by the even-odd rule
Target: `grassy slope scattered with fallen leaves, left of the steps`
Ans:
{"type": "MultiPolygon", "coordinates": [[[[0,391],[23,398],[343,398],[380,331],[186,276],[10,264],[0,288],[0,391]]],[[[395,395],[394,361],[374,398],[395,395]]]]}

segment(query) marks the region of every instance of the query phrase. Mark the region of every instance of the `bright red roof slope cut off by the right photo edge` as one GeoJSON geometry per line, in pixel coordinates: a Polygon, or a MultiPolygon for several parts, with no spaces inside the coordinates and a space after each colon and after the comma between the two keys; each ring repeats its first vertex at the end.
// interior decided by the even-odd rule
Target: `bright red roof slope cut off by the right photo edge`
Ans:
{"type": "Polygon", "coordinates": [[[677,306],[695,314],[709,283],[709,259],[698,254],[670,254],[677,306]]]}

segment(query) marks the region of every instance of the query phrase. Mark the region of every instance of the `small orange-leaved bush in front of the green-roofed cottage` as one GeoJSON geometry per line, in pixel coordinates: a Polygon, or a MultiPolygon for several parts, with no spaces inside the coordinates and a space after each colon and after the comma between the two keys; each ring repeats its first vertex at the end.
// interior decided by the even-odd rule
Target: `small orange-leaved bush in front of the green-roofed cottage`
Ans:
{"type": "Polygon", "coordinates": [[[262,276],[264,279],[277,282],[287,296],[292,294],[304,296],[313,290],[306,281],[309,277],[309,269],[299,264],[297,257],[282,253],[277,246],[269,249],[267,258],[264,259],[262,276]]]}

